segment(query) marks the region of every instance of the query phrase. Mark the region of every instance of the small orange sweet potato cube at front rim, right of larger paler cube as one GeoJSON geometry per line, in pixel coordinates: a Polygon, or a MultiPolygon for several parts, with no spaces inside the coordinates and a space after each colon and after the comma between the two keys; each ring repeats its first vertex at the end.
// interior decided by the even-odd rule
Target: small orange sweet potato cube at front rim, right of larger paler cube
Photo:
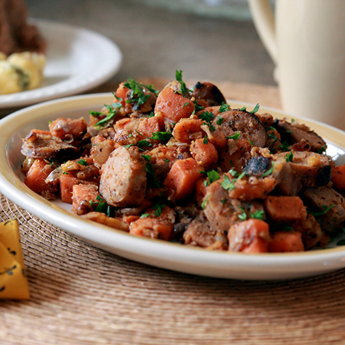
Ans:
{"type": "Polygon", "coordinates": [[[277,231],[268,244],[272,253],[304,251],[302,234],[298,231],[277,231]]]}

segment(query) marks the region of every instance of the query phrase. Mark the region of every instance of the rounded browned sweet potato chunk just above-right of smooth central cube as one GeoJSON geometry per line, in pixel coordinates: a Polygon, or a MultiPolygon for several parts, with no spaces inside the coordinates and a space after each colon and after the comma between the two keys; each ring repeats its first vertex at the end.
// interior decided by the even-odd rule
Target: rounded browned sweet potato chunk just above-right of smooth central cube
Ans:
{"type": "Polygon", "coordinates": [[[214,144],[204,139],[196,139],[190,145],[190,153],[196,163],[205,169],[213,168],[218,162],[218,152],[214,144]]]}

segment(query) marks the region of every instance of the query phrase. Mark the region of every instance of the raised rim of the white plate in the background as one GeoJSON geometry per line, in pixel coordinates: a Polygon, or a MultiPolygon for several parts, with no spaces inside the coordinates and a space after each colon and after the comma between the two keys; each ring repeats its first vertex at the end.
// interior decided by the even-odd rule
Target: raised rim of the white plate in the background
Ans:
{"type": "MultiPolygon", "coordinates": [[[[90,38],[97,38],[100,47],[102,46],[107,49],[107,54],[106,56],[104,54],[101,55],[103,58],[103,62],[99,64],[101,67],[95,68],[95,71],[92,72],[91,75],[87,75],[87,78],[84,81],[80,81],[80,75],[77,77],[72,75],[62,81],[57,81],[49,86],[42,86],[34,90],[15,92],[13,94],[0,94],[0,110],[10,110],[15,107],[28,106],[34,103],[79,94],[103,84],[105,81],[116,75],[120,70],[120,67],[123,64],[123,53],[120,51],[118,45],[107,36],[92,29],[69,23],[50,21],[42,18],[29,18],[29,20],[30,23],[36,24],[40,28],[42,36],[44,36],[48,42],[48,49],[50,45],[49,37],[46,36],[44,32],[47,33],[47,31],[51,29],[60,29],[70,31],[76,35],[86,34],[87,36],[90,36],[90,38]],[[44,27],[47,27],[47,29],[44,29],[44,27]],[[78,79],[79,82],[77,82],[78,79]],[[18,97],[18,95],[20,96],[18,97]],[[12,99],[14,99],[14,101],[12,99]]],[[[73,45],[71,47],[73,47],[73,45]]]]}

